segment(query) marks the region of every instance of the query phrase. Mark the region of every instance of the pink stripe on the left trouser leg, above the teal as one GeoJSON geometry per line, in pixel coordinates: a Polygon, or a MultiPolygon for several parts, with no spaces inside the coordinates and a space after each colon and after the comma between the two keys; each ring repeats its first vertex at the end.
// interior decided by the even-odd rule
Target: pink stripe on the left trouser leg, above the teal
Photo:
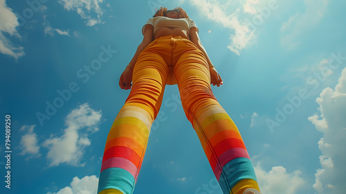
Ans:
{"type": "Polygon", "coordinates": [[[107,168],[122,168],[127,170],[134,177],[137,173],[137,167],[128,159],[122,157],[111,157],[102,162],[101,172],[107,168]]]}

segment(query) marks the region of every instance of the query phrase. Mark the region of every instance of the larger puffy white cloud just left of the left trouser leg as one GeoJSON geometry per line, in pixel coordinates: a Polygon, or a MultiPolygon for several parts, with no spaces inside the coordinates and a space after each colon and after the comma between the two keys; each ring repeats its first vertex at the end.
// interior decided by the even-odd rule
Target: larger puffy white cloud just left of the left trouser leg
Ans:
{"type": "Polygon", "coordinates": [[[84,155],[84,148],[91,145],[87,134],[98,131],[101,116],[101,111],[96,112],[87,103],[73,109],[66,116],[64,134],[60,137],[51,137],[43,143],[49,149],[46,157],[50,163],[49,167],[57,166],[60,163],[84,166],[84,164],[80,164],[80,160],[84,155]],[[85,128],[85,131],[80,132],[85,128]]]}

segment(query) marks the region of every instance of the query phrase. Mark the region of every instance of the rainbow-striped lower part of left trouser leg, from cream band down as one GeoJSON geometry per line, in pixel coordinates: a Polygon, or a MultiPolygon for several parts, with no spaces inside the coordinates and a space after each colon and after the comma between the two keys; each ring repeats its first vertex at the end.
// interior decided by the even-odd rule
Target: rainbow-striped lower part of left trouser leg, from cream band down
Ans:
{"type": "Polygon", "coordinates": [[[122,107],[107,137],[99,194],[131,194],[145,155],[152,121],[140,107],[122,107]]]}

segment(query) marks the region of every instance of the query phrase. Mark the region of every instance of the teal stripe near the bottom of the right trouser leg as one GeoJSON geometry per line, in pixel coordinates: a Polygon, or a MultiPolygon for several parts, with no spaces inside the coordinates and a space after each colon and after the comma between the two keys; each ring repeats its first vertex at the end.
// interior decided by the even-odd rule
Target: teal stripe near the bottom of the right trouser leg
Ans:
{"type": "Polygon", "coordinates": [[[257,182],[255,169],[251,160],[244,157],[239,157],[228,161],[222,168],[222,175],[219,179],[219,184],[224,193],[230,193],[230,188],[233,188],[242,179],[253,179],[257,182]],[[226,175],[226,177],[224,177],[226,175]],[[227,186],[228,185],[228,186],[227,186]]]}

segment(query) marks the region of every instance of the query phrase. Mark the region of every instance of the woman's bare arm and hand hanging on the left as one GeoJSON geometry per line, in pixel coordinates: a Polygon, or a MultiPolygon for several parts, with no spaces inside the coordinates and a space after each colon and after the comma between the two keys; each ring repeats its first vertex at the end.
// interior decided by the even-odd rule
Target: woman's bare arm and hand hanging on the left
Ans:
{"type": "Polygon", "coordinates": [[[154,40],[154,27],[152,25],[146,25],[144,28],[144,37],[142,42],[138,45],[137,51],[134,57],[129,62],[129,65],[122,72],[119,80],[119,86],[121,89],[131,89],[132,72],[134,71],[134,65],[140,52],[144,50],[147,45],[154,40]]]}

